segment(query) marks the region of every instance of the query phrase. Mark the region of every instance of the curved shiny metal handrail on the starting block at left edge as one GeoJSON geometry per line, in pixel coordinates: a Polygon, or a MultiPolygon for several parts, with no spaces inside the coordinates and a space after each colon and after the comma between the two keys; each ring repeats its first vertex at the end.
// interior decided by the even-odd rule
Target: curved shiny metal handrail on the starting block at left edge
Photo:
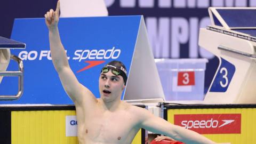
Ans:
{"type": "Polygon", "coordinates": [[[22,60],[16,55],[11,55],[11,59],[18,62],[18,71],[0,71],[0,76],[18,76],[19,85],[18,93],[16,95],[0,95],[0,100],[16,100],[21,97],[24,91],[23,80],[24,80],[24,69],[22,60]]]}

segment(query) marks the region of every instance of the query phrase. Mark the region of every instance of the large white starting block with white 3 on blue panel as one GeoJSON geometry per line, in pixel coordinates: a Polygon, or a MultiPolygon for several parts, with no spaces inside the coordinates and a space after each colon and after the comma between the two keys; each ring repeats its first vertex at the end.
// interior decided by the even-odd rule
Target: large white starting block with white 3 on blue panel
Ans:
{"type": "Polygon", "coordinates": [[[210,7],[199,45],[219,58],[206,103],[256,103],[256,8],[210,7]]]}

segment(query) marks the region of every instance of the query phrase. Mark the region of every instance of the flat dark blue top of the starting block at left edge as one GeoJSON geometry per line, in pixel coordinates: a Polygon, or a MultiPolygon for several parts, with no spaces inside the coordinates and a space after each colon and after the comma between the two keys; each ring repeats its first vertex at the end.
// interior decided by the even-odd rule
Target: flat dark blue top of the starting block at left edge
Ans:
{"type": "Polygon", "coordinates": [[[26,44],[0,36],[0,49],[25,49],[26,44]]]}

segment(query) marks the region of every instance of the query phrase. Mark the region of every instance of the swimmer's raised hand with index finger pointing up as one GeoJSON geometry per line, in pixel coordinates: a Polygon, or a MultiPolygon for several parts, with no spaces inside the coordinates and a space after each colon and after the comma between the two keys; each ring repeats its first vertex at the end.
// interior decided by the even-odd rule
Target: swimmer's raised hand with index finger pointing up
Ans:
{"type": "Polygon", "coordinates": [[[59,15],[60,15],[60,1],[57,3],[56,10],[53,11],[52,9],[44,14],[45,23],[49,30],[54,30],[58,26],[59,22],[59,15]]]}

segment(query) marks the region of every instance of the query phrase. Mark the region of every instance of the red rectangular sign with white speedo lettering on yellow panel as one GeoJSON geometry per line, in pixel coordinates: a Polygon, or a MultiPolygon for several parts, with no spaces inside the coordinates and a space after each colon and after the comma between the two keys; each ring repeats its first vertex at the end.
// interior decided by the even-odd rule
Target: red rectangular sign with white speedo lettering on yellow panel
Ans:
{"type": "Polygon", "coordinates": [[[241,133],[241,114],[174,115],[174,124],[201,134],[241,133]]]}

